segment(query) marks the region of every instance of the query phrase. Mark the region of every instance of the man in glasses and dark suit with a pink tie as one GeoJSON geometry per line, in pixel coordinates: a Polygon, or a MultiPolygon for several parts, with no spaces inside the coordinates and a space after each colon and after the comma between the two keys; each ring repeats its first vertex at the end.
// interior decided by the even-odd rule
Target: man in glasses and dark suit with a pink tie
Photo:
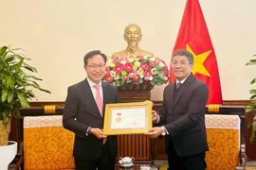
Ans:
{"type": "Polygon", "coordinates": [[[91,51],[84,58],[87,78],[68,87],[64,106],[64,128],[75,133],[76,170],[114,170],[118,155],[117,136],[102,132],[104,106],[118,103],[118,89],[101,81],[105,75],[106,56],[91,51]]]}

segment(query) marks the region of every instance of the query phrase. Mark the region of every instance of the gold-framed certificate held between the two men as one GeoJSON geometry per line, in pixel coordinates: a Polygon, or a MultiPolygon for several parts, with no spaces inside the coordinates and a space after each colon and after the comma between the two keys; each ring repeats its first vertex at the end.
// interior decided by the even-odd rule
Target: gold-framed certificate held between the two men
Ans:
{"type": "Polygon", "coordinates": [[[152,128],[152,102],[106,104],[105,135],[146,133],[152,128]]]}

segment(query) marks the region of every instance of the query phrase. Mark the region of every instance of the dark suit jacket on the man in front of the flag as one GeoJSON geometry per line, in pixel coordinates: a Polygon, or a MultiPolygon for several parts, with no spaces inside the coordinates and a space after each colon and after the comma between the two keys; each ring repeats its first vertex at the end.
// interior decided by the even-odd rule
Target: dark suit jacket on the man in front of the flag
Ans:
{"type": "Polygon", "coordinates": [[[208,86],[188,76],[174,97],[175,82],[164,89],[163,106],[158,124],[164,125],[166,151],[172,140],[177,155],[187,157],[209,150],[207,144],[205,112],[209,97],[208,86]]]}

